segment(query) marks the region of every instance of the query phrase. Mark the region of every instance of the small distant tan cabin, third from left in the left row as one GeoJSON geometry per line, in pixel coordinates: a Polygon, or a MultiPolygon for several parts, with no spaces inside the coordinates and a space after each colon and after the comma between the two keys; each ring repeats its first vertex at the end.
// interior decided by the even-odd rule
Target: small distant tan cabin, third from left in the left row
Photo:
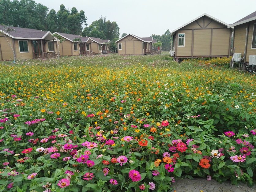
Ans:
{"type": "Polygon", "coordinates": [[[109,51],[109,46],[107,45],[108,42],[110,42],[109,39],[102,40],[100,38],[91,37],[93,43],[92,43],[92,51],[95,52],[95,54],[110,54],[115,53],[113,51],[109,51]]]}

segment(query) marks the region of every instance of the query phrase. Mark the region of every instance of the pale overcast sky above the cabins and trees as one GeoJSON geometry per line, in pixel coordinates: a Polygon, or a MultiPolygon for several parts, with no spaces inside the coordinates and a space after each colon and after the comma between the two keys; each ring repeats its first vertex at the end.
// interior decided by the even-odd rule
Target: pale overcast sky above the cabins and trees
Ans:
{"type": "Polygon", "coordinates": [[[255,0],[35,0],[50,9],[85,11],[88,26],[101,16],[116,21],[122,33],[140,37],[162,35],[207,13],[232,24],[256,11],[255,0]]]}

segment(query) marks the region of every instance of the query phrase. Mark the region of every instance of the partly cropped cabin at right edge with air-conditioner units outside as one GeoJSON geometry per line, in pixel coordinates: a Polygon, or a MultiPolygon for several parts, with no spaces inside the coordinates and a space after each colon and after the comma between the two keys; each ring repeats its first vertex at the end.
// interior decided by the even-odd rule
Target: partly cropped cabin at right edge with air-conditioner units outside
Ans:
{"type": "Polygon", "coordinates": [[[256,55],[256,11],[228,26],[228,28],[232,27],[234,27],[232,52],[241,53],[243,70],[245,70],[250,55],[256,55]]]}

